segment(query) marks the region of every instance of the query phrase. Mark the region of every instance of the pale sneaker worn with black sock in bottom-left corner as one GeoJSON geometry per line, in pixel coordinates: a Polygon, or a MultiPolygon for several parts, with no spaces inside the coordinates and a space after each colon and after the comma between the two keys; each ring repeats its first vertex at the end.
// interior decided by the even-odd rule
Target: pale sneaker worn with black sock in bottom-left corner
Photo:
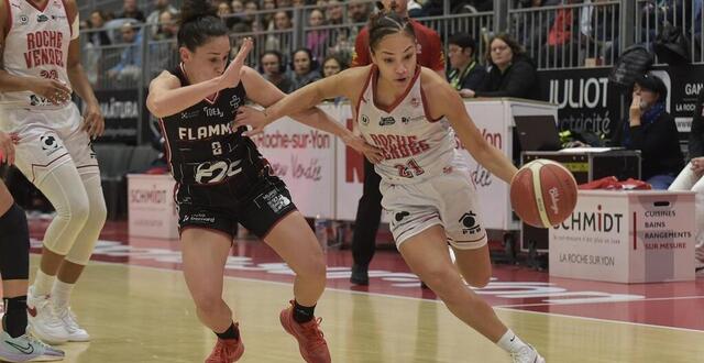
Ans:
{"type": "Polygon", "coordinates": [[[7,332],[0,334],[0,361],[3,362],[51,362],[64,359],[64,352],[52,348],[36,338],[24,334],[12,338],[7,332]]]}

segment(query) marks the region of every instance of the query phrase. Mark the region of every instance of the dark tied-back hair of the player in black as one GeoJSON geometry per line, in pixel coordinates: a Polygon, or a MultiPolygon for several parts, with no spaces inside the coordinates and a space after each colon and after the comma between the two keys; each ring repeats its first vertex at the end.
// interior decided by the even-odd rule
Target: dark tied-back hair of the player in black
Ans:
{"type": "Polygon", "coordinates": [[[207,0],[185,0],[180,8],[178,46],[195,52],[210,37],[228,35],[228,26],[218,16],[218,10],[207,0]]]}

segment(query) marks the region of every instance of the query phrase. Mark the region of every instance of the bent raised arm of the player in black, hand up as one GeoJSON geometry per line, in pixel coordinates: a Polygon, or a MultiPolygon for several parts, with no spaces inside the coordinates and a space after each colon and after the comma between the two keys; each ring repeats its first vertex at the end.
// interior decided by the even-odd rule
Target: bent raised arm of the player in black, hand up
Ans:
{"type": "Polygon", "coordinates": [[[150,84],[146,108],[154,117],[165,118],[200,102],[221,89],[237,86],[240,82],[244,59],[251,50],[252,40],[244,40],[240,52],[221,76],[196,85],[180,87],[176,76],[162,72],[150,84]]]}

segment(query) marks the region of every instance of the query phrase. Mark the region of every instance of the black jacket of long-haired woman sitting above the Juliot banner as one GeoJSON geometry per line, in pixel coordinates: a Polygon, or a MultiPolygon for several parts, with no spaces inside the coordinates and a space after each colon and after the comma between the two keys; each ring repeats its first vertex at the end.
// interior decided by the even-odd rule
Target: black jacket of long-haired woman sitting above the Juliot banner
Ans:
{"type": "Polygon", "coordinates": [[[503,74],[498,67],[492,66],[475,95],[476,97],[543,99],[535,63],[529,57],[520,55],[514,58],[514,63],[503,74]]]}

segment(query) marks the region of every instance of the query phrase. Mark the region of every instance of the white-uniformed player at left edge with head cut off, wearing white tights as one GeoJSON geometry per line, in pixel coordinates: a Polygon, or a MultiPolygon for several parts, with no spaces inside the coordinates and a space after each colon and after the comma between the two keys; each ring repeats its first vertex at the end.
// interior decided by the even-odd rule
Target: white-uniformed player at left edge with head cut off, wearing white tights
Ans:
{"type": "Polygon", "coordinates": [[[78,23],[75,0],[0,2],[0,130],[19,135],[16,166],[57,212],[28,295],[30,329],[50,343],[90,339],[69,297],[106,220],[90,146],[105,121],[80,65],[78,23]],[[82,117],[74,90],[86,106],[82,117]]]}

